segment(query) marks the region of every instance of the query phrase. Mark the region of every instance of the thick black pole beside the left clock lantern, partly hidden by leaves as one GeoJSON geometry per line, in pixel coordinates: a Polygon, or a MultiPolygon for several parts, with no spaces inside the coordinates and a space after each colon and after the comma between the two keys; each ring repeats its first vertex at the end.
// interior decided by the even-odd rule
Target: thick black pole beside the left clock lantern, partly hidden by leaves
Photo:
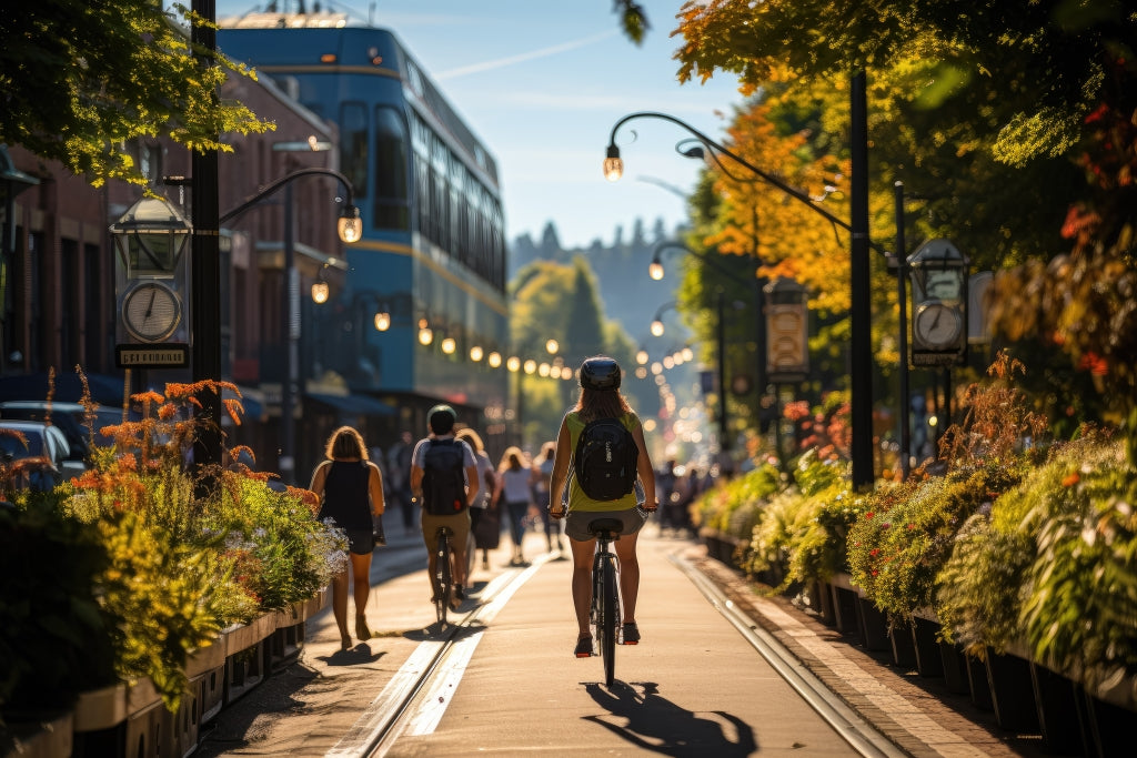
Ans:
{"type": "MultiPolygon", "coordinates": [[[[213,28],[217,8],[214,0],[193,0],[192,10],[208,24],[194,24],[192,41],[202,50],[200,65],[211,66],[217,49],[213,28]]],[[[214,93],[216,98],[216,93],[214,93]]],[[[221,244],[217,199],[217,151],[194,150],[191,157],[193,243],[190,258],[191,365],[193,382],[221,381],[221,244]]],[[[214,389],[198,393],[201,424],[193,444],[199,468],[221,464],[221,398],[214,389]]]]}

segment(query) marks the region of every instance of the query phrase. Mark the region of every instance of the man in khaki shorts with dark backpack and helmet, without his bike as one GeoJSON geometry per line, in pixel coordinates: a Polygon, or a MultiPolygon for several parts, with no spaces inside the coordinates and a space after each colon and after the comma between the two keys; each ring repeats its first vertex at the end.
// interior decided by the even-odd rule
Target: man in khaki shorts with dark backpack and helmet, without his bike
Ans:
{"type": "Polygon", "coordinates": [[[478,497],[478,460],[470,445],[454,436],[454,408],[438,405],[426,414],[430,436],[420,440],[410,457],[410,492],[422,506],[423,541],[429,557],[428,578],[434,602],[434,547],[438,530],[450,528],[454,566],[454,603],[466,599],[466,541],[470,539],[470,503],[478,497]],[[468,482],[468,485],[466,484],[468,482]]]}

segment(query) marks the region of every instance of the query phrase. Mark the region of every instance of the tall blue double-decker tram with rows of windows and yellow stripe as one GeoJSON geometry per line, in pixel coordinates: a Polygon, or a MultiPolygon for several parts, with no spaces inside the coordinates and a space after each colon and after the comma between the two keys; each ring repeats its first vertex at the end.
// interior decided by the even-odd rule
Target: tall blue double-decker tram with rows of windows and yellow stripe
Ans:
{"type": "Polygon", "coordinates": [[[508,319],[493,157],[392,32],[263,16],[273,25],[244,17],[217,47],[338,125],[363,219],[345,291],[317,322],[321,363],[352,391],[496,416],[507,376],[487,357],[508,319]]]}

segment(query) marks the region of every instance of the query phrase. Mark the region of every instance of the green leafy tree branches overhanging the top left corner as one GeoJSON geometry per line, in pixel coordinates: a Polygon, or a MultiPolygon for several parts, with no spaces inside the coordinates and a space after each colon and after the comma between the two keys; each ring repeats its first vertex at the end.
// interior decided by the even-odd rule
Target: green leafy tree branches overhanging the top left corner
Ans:
{"type": "Polygon", "coordinates": [[[196,49],[185,6],[155,0],[42,0],[0,11],[0,141],[56,159],[92,184],[144,184],[126,150],[168,136],[190,150],[230,150],[226,132],[264,132],[244,106],[218,102],[230,74],[252,73],[196,49]]]}

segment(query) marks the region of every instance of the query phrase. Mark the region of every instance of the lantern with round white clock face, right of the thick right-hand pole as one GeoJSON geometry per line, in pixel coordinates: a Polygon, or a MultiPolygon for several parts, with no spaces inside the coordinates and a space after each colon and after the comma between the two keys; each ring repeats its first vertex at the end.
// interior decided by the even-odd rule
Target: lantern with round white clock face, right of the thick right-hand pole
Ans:
{"type": "Polygon", "coordinates": [[[929,240],[908,256],[913,366],[952,366],[963,360],[968,263],[947,240],[929,240]]]}

